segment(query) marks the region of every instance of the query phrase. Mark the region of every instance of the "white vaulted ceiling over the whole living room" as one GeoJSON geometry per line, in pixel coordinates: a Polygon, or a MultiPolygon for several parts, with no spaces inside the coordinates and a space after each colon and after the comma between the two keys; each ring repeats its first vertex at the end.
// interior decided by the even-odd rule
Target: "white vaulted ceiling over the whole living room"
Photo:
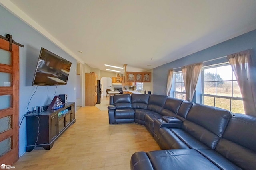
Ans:
{"type": "Polygon", "coordinates": [[[256,29],[256,0],[0,0],[0,4],[81,63],[100,70],[106,70],[104,64],[128,64],[128,71],[146,71],[256,29]]]}

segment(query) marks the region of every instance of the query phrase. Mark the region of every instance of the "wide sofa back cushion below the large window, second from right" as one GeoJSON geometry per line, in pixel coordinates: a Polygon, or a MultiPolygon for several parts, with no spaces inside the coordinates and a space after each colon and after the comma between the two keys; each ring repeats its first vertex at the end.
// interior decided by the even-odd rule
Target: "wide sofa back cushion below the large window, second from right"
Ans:
{"type": "Polygon", "coordinates": [[[218,107],[193,104],[182,128],[211,149],[215,149],[232,115],[230,111],[218,107]]]}

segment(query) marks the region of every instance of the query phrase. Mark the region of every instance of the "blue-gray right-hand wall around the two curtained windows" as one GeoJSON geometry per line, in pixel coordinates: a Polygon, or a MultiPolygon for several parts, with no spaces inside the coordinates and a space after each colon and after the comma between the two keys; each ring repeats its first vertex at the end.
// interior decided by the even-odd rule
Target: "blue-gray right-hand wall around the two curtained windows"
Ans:
{"type": "MultiPolygon", "coordinates": [[[[209,40],[210,41],[210,40],[209,40]]],[[[165,95],[166,94],[166,85],[167,85],[167,75],[168,70],[171,68],[179,68],[181,66],[186,66],[189,64],[209,61],[213,59],[217,59],[211,62],[204,63],[203,66],[210,64],[217,64],[227,62],[226,58],[218,59],[220,57],[224,57],[229,54],[233,54],[236,52],[244,51],[247,49],[251,49],[254,51],[253,53],[253,61],[255,63],[255,51],[256,51],[256,30],[250,31],[228,41],[224,41],[202,51],[198,51],[192,55],[188,55],[176,61],[172,61],[170,63],[164,64],[157,68],[154,68],[154,94],[165,95]]],[[[172,56],[170,56],[172,57],[172,56]]],[[[178,71],[179,69],[176,69],[178,71]]],[[[181,69],[180,69],[181,70],[181,69]]],[[[199,87],[200,88],[200,84],[199,87]]],[[[197,88],[197,99],[195,96],[193,98],[193,102],[200,101],[200,89],[197,88]],[[198,95],[199,94],[199,95],[198,95]]],[[[173,86],[171,91],[171,96],[173,97],[173,86]]]]}

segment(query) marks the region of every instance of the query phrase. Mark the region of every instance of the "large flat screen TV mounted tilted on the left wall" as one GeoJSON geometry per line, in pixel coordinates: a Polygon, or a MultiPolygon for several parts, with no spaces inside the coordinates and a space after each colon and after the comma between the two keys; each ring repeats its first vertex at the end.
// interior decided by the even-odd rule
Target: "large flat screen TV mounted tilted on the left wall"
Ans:
{"type": "Polygon", "coordinates": [[[71,64],[42,47],[32,86],[66,85],[71,64]]]}

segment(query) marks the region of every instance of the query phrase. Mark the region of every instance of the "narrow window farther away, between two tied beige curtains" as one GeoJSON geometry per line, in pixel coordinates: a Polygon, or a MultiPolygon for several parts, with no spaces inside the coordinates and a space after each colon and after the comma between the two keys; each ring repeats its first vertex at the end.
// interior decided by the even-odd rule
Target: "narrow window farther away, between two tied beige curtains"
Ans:
{"type": "Polygon", "coordinates": [[[186,100],[186,90],[182,72],[174,73],[174,98],[186,100]]]}

